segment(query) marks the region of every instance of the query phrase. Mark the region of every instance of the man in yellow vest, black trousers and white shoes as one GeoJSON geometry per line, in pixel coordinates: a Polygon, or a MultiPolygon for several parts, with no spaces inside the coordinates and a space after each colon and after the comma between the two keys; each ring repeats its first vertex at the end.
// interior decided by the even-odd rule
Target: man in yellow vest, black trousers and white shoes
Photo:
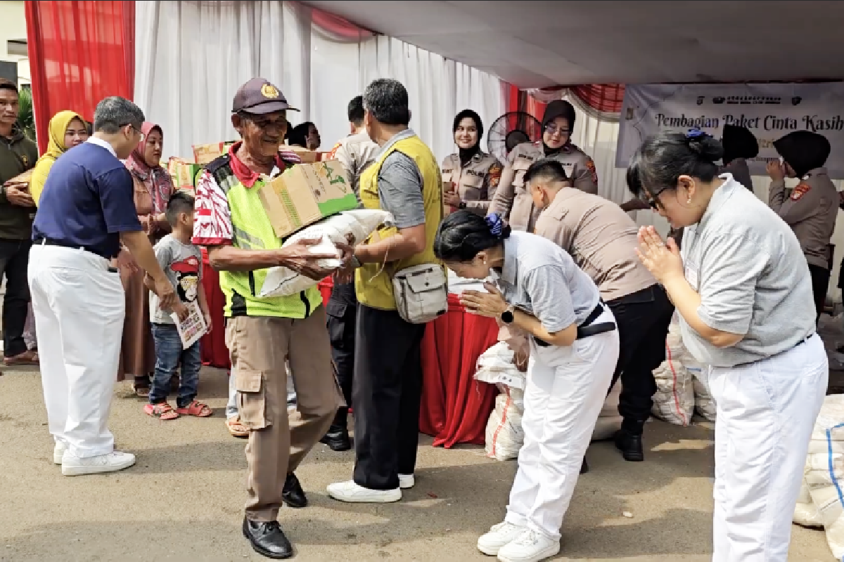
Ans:
{"type": "Polygon", "coordinates": [[[354,479],[329,485],[328,494],[385,502],[400,500],[401,489],[414,485],[425,333],[424,324],[398,315],[392,274],[441,263],[434,238],[443,216],[442,179],[434,154],[408,128],[408,92],[401,83],[373,81],[364,107],[366,132],[381,149],[360,178],[360,201],[391,212],[395,227],[381,227],[354,249],[354,479]]]}

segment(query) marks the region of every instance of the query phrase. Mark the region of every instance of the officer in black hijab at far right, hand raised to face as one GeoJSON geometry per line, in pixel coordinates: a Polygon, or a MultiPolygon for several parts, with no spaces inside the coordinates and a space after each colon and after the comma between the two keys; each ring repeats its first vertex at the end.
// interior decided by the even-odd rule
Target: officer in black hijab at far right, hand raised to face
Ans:
{"type": "Polygon", "coordinates": [[[768,163],[768,175],[773,180],[768,204],[792,227],[800,241],[809,262],[814,308],[820,318],[830,284],[830,238],[839,203],[836,186],[824,168],[830,156],[830,142],[818,133],[794,131],[775,141],[774,148],[785,163],[768,163]],[[800,178],[800,183],[787,190],[786,176],[800,178]]]}

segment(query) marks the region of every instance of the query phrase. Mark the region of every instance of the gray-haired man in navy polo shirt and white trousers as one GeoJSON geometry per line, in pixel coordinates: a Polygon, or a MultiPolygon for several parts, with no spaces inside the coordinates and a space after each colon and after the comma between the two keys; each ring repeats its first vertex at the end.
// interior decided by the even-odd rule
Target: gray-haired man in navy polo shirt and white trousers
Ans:
{"type": "Polygon", "coordinates": [[[176,292],[141,229],[126,159],[143,139],[143,111],[106,98],[94,113],[94,135],[62,154],[47,177],[32,227],[29,281],[38,325],[41,383],[62,474],[128,468],[108,430],[125,313],[111,259],[121,242],[155,281],[161,308],[183,314],[176,292]],[[176,307],[176,308],[174,308],[176,307]]]}

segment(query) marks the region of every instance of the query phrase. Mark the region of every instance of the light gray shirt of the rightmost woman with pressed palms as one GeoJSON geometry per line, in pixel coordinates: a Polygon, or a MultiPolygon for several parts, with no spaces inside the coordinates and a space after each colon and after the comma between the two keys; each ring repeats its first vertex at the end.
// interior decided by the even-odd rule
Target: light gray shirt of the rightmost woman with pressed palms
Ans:
{"type": "Polygon", "coordinates": [[[701,222],[684,230],[685,277],[701,295],[704,324],[744,334],[718,348],[680,317],[683,342],[695,359],[733,367],[774,356],[814,334],[809,266],[797,237],[776,212],[733,179],[719,187],[701,222]]]}

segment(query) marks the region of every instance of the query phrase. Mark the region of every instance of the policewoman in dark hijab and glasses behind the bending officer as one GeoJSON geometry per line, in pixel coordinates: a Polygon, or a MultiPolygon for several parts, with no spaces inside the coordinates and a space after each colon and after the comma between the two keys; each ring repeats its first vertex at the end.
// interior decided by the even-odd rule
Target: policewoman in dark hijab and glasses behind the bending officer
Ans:
{"type": "Polygon", "coordinates": [[[542,140],[523,142],[512,149],[507,166],[490,205],[495,212],[509,221],[514,230],[533,232],[539,210],[525,188],[524,175],[530,165],[543,158],[554,158],[563,164],[572,187],[587,193],[598,194],[598,173],[595,163],[580,148],[571,144],[571,131],[575,126],[575,108],[563,99],[555,99],[545,108],[542,117],[542,140]]]}

